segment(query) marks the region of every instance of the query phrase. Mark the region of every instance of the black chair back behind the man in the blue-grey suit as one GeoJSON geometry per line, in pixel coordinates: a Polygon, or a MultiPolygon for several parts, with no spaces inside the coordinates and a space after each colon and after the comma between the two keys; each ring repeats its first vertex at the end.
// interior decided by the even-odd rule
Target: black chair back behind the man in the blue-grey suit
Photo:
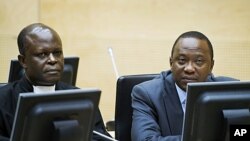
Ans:
{"type": "Polygon", "coordinates": [[[132,107],[131,92],[135,85],[151,80],[159,74],[139,74],[121,76],[116,85],[115,138],[131,141],[132,107]]]}

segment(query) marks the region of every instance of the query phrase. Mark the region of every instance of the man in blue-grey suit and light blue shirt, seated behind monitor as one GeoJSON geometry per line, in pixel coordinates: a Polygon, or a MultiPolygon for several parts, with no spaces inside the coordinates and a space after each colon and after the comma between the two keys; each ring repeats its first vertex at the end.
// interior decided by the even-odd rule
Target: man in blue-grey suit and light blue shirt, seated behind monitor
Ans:
{"type": "Polygon", "coordinates": [[[235,80],[214,77],[213,66],[213,47],[204,34],[180,35],[172,48],[171,70],[132,90],[132,141],[180,141],[187,83],[235,80]]]}

